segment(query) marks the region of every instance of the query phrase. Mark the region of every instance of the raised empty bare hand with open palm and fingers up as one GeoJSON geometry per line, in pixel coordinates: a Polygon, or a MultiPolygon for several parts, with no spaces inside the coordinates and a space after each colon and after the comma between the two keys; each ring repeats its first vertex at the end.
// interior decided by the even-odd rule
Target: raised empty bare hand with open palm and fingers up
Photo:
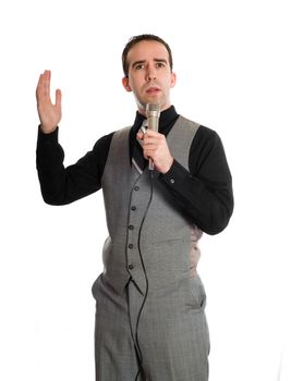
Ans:
{"type": "Polygon", "coordinates": [[[46,70],[40,74],[37,88],[36,100],[37,111],[41,124],[41,131],[46,134],[52,133],[62,118],[61,110],[61,90],[56,90],[56,103],[52,105],[50,99],[50,71],[46,70]]]}

